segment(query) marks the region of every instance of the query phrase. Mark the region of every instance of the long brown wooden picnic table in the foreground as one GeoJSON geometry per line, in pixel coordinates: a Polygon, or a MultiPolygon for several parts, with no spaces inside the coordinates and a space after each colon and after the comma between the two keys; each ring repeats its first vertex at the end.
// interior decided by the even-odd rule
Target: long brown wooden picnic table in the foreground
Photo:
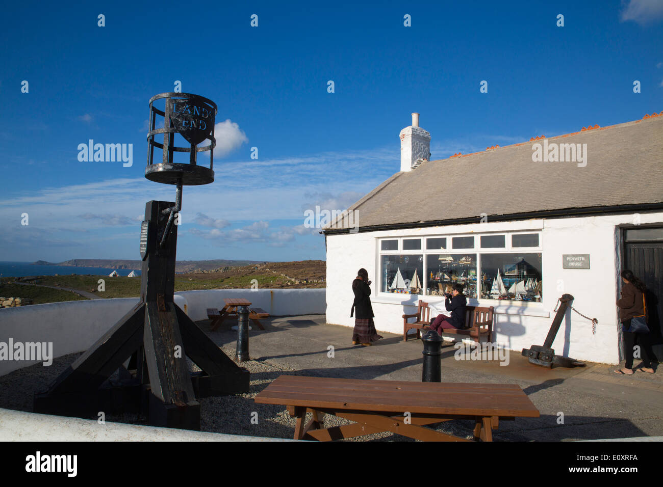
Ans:
{"type": "Polygon", "coordinates": [[[279,376],[260,394],[258,404],[282,404],[297,418],[294,439],[331,441],[392,431],[423,441],[468,441],[425,427],[452,419],[474,419],[474,439],[493,441],[499,420],[539,417],[516,384],[455,384],[327,377],[279,376]],[[306,413],[312,413],[304,425],[306,413]],[[408,414],[409,413],[409,414],[408,414]],[[332,414],[355,421],[324,428],[332,414]]]}

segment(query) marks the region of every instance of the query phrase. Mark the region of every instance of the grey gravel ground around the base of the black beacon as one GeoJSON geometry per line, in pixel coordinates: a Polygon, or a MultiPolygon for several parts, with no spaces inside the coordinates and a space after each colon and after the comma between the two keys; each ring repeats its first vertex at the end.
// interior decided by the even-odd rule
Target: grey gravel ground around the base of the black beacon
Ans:
{"type": "MultiPolygon", "coordinates": [[[[230,347],[221,347],[228,356],[234,356],[235,351],[230,347]]],[[[32,396],[37,392],[47,390],[50,384],[62,373],[80,353],[69,354],[56,358],[48,367],[34,364],[15,370],[5,376],[0,376],[0,407],[19,411],[32,412],[32,396]]],[[[249,394],[235,396],[219,396],[200,399],[201,431],[213,433],[227,433],[231,435],[249,435],[272,438],[292,439],[296,420],[283,406],[272,404],[255,404],[253,398],[261,392],[275,378],[282,374],[298,375],[300,372],[288,364],[280,363],[278,366],[269,360],[249,360],[243,362],[243,367],[251,372],[251,388],[249,394]],[[251,418],[257,413],[257,424],[251,423],[251,418]]],[[[197,367],[190,362],[192,370],[197,367]]],[[[310,414],[307,420],[310,418],[310,414]]],[[[97,419],[90,417],[88,419],[97,419]]],[[[121,415],[106,415],[106,421],[119,423],[145,424],[144,416],[124,413],[121,415]]],[[[255,423],[255,421],[253,421],[255,423]]],[[[333,415],[324,416],[325,427],[349,424],[351,421],[333,415]]],[[[454,436],[471,439],[474,421],[456,420],[440,423],[437,431],[449,433],[454,436]]],[[[497,433],[495,431],[494,433],[497,433]]],[[[506,438],[503,438],[506,439],[506,438]]],[[[410,438],[394,435],[393,433],[376,433],[363,437],[342,441],[414,441],[410,438]]]]}

